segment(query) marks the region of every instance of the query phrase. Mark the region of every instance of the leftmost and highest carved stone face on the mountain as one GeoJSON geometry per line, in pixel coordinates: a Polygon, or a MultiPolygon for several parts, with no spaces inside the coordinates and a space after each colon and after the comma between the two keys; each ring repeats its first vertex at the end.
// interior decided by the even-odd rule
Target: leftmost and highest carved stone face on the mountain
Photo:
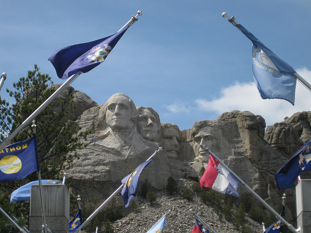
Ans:
{"type": "Polygon", "coordinates": [[[112,130],[129,130],[133,127],[132,110],[124,96],[112,96],[107,101],[106,124],[112,130]]]}

